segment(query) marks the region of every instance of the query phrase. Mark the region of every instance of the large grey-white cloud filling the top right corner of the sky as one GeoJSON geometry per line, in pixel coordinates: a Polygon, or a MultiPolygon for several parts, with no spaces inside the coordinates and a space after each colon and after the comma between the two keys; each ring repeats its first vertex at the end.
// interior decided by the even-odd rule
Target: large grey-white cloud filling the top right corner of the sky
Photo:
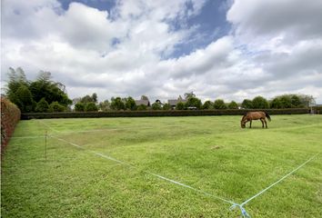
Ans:
{"type": "MultiPolygon", "coordinates": [[[[287,35],[298,40],[322,35],[322,2],[316,0],[236,0],[227,20],[237,34],[287,35]]],[[[287,43],[287,42],[286,42],[287,43]]]]}

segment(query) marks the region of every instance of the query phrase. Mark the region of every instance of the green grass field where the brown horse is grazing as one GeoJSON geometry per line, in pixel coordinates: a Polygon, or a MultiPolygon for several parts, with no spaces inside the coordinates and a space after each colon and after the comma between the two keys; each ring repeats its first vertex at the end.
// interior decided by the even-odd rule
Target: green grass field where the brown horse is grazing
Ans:
{"type": "Polygon", "coordinates": [[[21,121],[2,160],[2,216],[238,217],[151,173],[242,203],[317,154],[245,207],[252,217],[322,217],[322,115],[271,117],[268,129],[241,129],[241,116],[21,121]]]}

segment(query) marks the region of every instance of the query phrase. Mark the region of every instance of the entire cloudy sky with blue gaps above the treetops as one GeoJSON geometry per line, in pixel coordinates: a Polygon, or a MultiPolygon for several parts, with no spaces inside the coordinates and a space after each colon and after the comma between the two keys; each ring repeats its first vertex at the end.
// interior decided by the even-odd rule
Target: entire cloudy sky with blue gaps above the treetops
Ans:
{"type": "Polygon", "coordinates": [[[312,94],[322,104],[320,0],[2,0],[1,80],[21,66],[151,100],[312,94]]]}

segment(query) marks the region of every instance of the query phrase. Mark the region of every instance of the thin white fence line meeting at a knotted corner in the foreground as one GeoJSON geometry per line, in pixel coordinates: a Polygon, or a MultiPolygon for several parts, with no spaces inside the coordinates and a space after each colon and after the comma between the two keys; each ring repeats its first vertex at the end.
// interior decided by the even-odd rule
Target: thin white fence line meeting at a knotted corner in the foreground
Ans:
{"type": "MultiPolygon", "coordinates": [[[[114,161],[114,162],[116,162],[116,163],[120,163],[120,164],[126,165],[126,166],[128,166],[128,167],[132,167],[132,168],[137,169],[137,167],[136,167],[134,164],[132,164],[132,163],[126,163],[126,162],[120,161],[120,160],[116,159],[115,157],[112,157],[112,156],[107,155],[107,154],[101,154],[101,153],[97,153],[97,152],[95,152],[95,151],[87,150],[86,148],[82,147],[82,146],[81,146],[81,145],[79,145],[79,144],[75,144],[75,143],[72,143],[72,142],[66,141],[65,139],[62,139],[62,138],[56,137],[56,136],[54,136],[54,135],[49,135],[49,136],[50,136],[50,137],[52,137],[52,138],[55,138],[55,139],[57,139],[57,140],[59,140],[59,141],[61,141],[61,142],[65,142],[66,144],[71,144],[71,145],[73,145],[73,146],[75,146],[75,147],[77,147],[77,148],[79,148],[79,149],[82,149],[82,150],[84,150],[84,151],[87,151],[88,153],[96,154],[97,156],[103,157],[103,158],[105,158],[105,159],[107,159],[107,160],[114,161]]],[[[255,195],[253,195],[253,196],[249,197],[249,198],[248,198],[246,201],[244,201],[243,203],[235,203],[235,202],[234,202],[234,201],[232,201],[232,200],[227,200],[226,198],[223,198],[223,197],[220,197],[220,196],[216,196],[216,195],[214,195],[214,194],[212,194],[212,193],[206,193],[206,192],[205,192],[205,191],[203,191],[203,190],[196,189],[196,188],[194,188],[194,187],[192,187],[192,186],[190,186],[190,185],[187,185],[187,184],[185,184],[185,183],[180,183],[180,182],[177,182],[177,181],[175,181],[175,180],[172,180],[172,179],[166,178],[165,176],[160,175],[160,174],[157,174],[157,173],[151,173],[151,172],[149,172],[149,171],[142,171],[142,170],[141,170],[141,171],[142,171],[143,173],[148,173],[148,174],[154,175],[154,176],[156,176],[157,178],[162,179],[162,180],[165,180],[165,181],[167,181],[167,182],[169,182],[169,183],[175,183],[175,184],[180,185],[180,186],[182,186],[182,187],[188,188],[188,189],[190,189],[190,190],[195,191],[196,193],[202,193],[202,194],[205,194],[206,196],[209,196],[209,197],[211,197],[211,198],[214,198],[214,199],[216,199],[216,200],[218,200],[218,201],[222,201],[222,202],[225,202],[225,203],[229,203],[229,204],[231,205],[231,206],[230,206],[230,210],[233,210],[233,209],[235,209],[235,208],[238,208],[238,209],[240,210],[240,213],[241,213],[241,216],[242,216],[242,217],[249,218],[249,217],[250,217],[250,215],[249,215],[249,213],[247,213],[247,210],[245,209],[245,205],[246,205],[247,203],[249,203],[250,201],[254,200],[254,199],[255,199],[255,198],[257,198],[259,195],[261,195],[261,194],[263,194],[263,193],[267,192],[267,191],[268,191],[269,189],[271,189],[273,186],[277,185],[277,183],[281,183],[281,182],[282,182],[283,180],[285,180],[289,175],[291,175],[291,174],[293,174],[293,173],[297,172],[297,170],[299,170],[300,168],[302,168],[303,166],[305,166],[307,163],[311,162],[314,158],[316,158],[318,154],[320,154],[320,153],[317,153],[317,154],[315,154],[315,155],[311,156],[311,157],[310,157],[310,158],[309,158],[305,163],[302,163],[302,164],[298,165],[298,166],[297,166],[297,168],[295,168],[294,170],[290,171],[289,173],[287,173],[286,175],[284,175],[283,177],[281,177],[279,180],[277,180],[277,182],[275,182],[275,183],[272,183],[272,184],[268,185],[265,189],[261,190],[260,192],[256,193],[255,195]]]]}

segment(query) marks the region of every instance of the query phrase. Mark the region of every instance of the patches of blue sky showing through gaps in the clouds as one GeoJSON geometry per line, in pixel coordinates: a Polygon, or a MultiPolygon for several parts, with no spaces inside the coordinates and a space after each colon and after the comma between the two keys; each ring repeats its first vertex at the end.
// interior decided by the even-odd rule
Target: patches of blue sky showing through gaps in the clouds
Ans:
{"type": "MultiPolygon", "coordinates": [[[[67,10],[69,4],[73,2],[95,7],[99,10],[106,10],[109,13],[116,6],[116,1],[113,0],[59,0],[59,2],[64,10],[67,10]]],[[[188,8],[193,7],[193,4],[189,1],[186,2],[186,5],[188,8]]],[[[182,21],[177,20],[169,22],[176,31],[180,28],[191,28],[192,26],[197,26],[197,31],[190,35],[190,39],[194,40],[193,43],[176,45],[175,51],[166,56],[166,58],[190,54],[196,49],[204,48],[214,40],[227,35],[230,31],[230,24],[226,22],[226,5],[226,1],[223,0],[206,1],[201,12],[195,16],[187,17],[184,24],[181,24],[182,21]]]]}

